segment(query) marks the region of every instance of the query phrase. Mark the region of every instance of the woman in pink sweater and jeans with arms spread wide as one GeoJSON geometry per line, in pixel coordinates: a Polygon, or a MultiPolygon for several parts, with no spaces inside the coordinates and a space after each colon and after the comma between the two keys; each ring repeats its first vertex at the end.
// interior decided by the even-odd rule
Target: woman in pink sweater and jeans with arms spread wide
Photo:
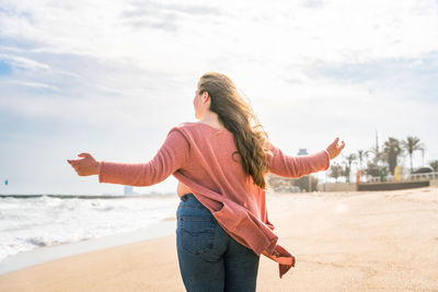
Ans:
{"type": "Polygon", "coordinates": [[[176,246],[187,291],[255,291],[260,255],[279,264],[295,257],[277,244],[268,221],[265,175],[300,177],[328,168],[345,143],[289,156],[267,139],[249,103],[227,75],[208,72],[193,101],[198,122],[173,127],[148,163],[97,162],[89,153],[68,160],[80,176],[131,186],[178,179],[176,246]]]}

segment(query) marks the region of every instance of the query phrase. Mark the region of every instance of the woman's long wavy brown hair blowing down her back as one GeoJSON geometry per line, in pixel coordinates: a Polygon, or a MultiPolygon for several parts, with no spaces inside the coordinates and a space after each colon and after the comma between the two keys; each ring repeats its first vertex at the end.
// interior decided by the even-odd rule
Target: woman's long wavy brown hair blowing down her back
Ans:
{"type": "Polygon", "coordinates": [[[267,188],[268,137],[244,94],[232,80],[218,72],[205,73],[198,83],[199,94],[210,95],[210,110],[218,114],[219,121],[234,136],[234,143],[242,159],[245,173],[255,185],[267,188]]]}

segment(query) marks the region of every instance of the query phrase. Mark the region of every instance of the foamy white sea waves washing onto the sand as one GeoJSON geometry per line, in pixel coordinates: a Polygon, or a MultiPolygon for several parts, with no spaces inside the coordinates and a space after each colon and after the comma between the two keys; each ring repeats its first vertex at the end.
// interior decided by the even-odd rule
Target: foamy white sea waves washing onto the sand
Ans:
{"type": "Polygon", "coordinates": [[[0,195],[0,264],[32,249],[134,232],[175,218],[176,194],[0,195]]]}

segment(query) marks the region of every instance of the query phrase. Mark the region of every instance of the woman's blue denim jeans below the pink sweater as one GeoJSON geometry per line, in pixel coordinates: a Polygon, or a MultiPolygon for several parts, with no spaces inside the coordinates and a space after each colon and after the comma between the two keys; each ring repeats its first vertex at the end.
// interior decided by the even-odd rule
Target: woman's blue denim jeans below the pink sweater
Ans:
{"type": "Polygon", "coordinates": [[[255,291],[260,256],[234,241],[193,194],[181,198],[176,217],[180,271],[188,292],[255,291]]]}

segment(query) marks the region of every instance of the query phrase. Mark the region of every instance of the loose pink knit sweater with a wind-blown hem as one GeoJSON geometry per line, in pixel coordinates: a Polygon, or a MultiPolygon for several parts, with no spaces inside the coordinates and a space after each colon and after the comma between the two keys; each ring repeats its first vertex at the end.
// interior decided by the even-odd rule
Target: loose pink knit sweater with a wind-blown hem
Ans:
{"type": "MultiPolygon", "coordinates": [[[[328,168],[323,150],[307,156],[289,156],[272,143],[269,172],[300,177],[328,168]]],[[[155,156],[147,163],[102,162],[100,183],[151,186],[173,174],[189,187],[218,223],[235,241],[279,264],[280,278],[295,266],[295,257],[277,245],[278,236],[268,221],[266,194],[246,175],[234,137],[201,122],[173,127],[155,156]]]]}

